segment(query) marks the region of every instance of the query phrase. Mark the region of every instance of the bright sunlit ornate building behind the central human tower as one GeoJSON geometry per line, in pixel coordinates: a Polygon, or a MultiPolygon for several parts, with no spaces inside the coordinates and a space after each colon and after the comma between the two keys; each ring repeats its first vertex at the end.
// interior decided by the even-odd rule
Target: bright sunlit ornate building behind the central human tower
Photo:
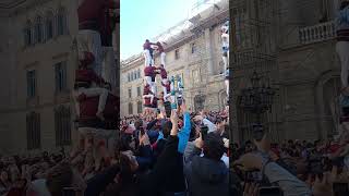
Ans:
{"type": "MultiPolygon", "coordinates": [[[[219,1],[151,39],[167,42],[168,75],[183,78],[184,99],[193,110],[220,110],[226,105],[225,77],[220,74],[224,70],[220,26],[229,20],[228,7],[227,0],[219,1]]],[[[159,57],[155,57],[155,64],[159,64],[159,57]]],[[[143,111],[143,54],[121,62],[121,117],[143,111]]],[[[157,89],[160,90],[159,82],[158,77],[157,89]]]]}

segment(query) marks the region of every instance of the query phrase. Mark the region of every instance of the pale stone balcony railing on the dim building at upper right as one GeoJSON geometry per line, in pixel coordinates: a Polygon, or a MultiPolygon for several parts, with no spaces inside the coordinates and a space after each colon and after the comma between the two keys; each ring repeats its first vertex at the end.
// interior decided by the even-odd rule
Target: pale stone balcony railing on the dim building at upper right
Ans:
{"type": "Polygon", "coordinates": [[[334,21],[299,29],[299,38],[302,45],[333,39],[335,36],[336,27],[334,21]]]}

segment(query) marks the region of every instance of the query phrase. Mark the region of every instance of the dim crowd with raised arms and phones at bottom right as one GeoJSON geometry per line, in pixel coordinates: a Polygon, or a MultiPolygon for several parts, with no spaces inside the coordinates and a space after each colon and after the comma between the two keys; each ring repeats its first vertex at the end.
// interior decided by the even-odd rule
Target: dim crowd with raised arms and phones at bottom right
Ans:
{"type": "Polygon", "coordinates": [[[231,195],[349,195],[349,130],[327,140],[248,140],[231,147],[231,195]]]}

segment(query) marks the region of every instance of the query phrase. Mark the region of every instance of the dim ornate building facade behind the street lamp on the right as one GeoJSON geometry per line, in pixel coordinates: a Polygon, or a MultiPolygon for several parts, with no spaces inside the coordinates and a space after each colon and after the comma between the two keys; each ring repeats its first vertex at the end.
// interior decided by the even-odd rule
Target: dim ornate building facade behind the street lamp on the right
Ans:
{"type": "Polygon", "coordinates": [[[256,71],[278,88],[264,126],[273,139],[327,138],[338,131],[340,64],[334,19],[340,0],[230,0],[233,140],[251,138],[253,121],[237,102],[256,71]]]}

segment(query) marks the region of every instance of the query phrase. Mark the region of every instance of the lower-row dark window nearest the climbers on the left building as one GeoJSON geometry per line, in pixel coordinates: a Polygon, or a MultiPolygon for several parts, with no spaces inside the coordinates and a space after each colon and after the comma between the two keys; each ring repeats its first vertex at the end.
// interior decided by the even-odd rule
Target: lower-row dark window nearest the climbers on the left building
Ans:
{"type": "Polygon", "coordinates": [[[55,110],[55,131],[56,146],[70,145],[71,137],[71,119],[70,108],[60,106],[55,110]]]}

